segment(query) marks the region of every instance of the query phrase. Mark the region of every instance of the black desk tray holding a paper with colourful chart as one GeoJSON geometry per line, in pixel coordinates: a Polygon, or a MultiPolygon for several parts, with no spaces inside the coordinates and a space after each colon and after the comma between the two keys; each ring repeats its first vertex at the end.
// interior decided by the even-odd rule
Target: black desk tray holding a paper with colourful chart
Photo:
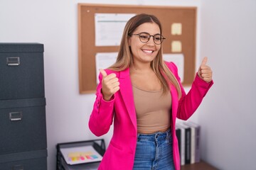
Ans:
{"type": "Polygon", "coordinates": [[[103,139],[59,143],[56,147],[57,170],[97,170],[106,151],[103,139]]]}

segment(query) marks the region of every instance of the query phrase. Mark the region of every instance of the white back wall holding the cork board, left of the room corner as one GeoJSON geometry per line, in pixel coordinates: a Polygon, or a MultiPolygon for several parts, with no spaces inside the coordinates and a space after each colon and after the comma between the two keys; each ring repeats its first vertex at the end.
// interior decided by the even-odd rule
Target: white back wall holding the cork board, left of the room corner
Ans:
{"type": "MultiPolygon", "coordinates": [[[[45,47],[49,170],[55,169],[57,143],[96,139],[87,128],[95,94],[80,95],[78,89],[78,3],[200,5],[196,0],[0,1],[0,42],[41,42],[45,47]]],[[[111,135],[103,136],[107,144],[111,135]]]]}

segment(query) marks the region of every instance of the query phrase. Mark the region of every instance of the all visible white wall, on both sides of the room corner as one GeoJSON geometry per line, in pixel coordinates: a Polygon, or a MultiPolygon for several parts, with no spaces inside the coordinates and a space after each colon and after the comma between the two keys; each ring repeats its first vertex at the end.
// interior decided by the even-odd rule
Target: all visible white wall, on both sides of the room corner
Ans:
{"type": "MultiPolygon", "coordinates": [[[[255,61],[255,2],[1,0],[0,42],[41,42],[45,47],[49,170],[55,169],[57,143],[96,139],[87,128],[95,95],[80,95],[78,86],[77,4],[82,2],[198,6],[197,65],[207,55],[215,80],[191,118],[203,125],[203,159],[220,169],[252,165],[250,157],[255,157],[255,152],[250,150],[255,148],[250,146],[256,139],[250,131],[255,129],[255,76],[251,69],[255,61]]],[[[111,132],[103,137],[109,142],[110,136],[111,132]]]]}

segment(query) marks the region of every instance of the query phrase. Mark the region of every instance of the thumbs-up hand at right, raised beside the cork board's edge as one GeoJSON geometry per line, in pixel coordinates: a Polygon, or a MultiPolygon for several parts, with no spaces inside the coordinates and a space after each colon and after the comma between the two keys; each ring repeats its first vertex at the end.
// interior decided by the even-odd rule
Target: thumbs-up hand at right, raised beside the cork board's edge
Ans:
{"type": "Polygon", "coordinates": [[[211,71],[210,67],[206,65],[208,58],[204,57],[203,61],[198,69],[198,76],[206,82],[212,81],[213,72],[211,71]]]}

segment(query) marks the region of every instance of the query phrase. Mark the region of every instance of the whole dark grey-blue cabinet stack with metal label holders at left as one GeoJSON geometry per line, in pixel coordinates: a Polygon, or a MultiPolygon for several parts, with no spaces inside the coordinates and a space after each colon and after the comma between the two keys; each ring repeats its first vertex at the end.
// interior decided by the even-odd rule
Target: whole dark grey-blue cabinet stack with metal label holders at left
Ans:
{"type": "Polygon", "coordinates": [[[40,43],[0,43],[0,170],[9,169],[47,169],[40,43]]]}

